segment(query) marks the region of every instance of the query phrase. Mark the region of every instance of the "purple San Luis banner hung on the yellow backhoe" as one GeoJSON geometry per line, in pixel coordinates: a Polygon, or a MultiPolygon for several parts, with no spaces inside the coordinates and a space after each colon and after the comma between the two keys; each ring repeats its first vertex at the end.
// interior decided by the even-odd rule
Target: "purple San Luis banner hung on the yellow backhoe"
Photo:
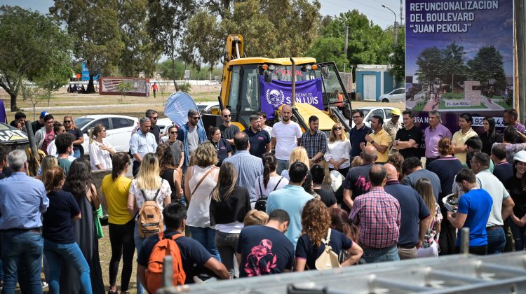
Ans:
{"type": "MultiPolygon", "coordinates": [[[[290,105],[292,100],[292,82],[272,80],[265,83],[263,76],[259,76],[259,97],[261,97],[261,111],[267,113],[267,118],[274,118],[274,111],[282,104],[290,105]]],[[[306,103],[323,110],[323,94],[321,78],[301,80],[296,82],[296,103],[306,103]]]]}

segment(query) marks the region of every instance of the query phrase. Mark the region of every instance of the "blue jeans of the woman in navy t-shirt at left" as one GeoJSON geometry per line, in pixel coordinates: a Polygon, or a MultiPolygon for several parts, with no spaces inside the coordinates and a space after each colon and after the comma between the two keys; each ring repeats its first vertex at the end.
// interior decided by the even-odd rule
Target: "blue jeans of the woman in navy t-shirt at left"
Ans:
{"type": "Polygon", "coordinates": [[[81,288],[84,293],[91,293],[90,267],[76,243],[58,244],[44,239],[44,254],[49,265],[49,293],[60,293],[60,260],[63,258],[73,265],[81,278],[81,288]]]}

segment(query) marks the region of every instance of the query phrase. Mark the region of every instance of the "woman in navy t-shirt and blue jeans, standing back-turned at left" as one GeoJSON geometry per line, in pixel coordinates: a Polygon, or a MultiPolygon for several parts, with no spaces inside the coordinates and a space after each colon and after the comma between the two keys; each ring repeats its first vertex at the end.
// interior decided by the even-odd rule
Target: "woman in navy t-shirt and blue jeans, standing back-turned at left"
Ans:
{"type": "Polygon", "coordinates": [[[44,171],[44,186],[49,198],[49,207],[43,215],[43,253],[49,267],[49,293],[60,293],[60,262],[64,259],[79,273],[83,293],[93,293],[90,267],[76,244],[74,221],[81,219],[81,211],[72,193],[62,190],[65,182],[64,170],[53,167],[44,171]]]}

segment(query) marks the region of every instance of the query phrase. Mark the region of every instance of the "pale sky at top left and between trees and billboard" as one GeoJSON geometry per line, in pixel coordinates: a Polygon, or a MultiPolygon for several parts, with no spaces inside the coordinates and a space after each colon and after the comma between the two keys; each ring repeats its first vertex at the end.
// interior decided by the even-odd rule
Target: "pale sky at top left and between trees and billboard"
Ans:
{"type": "MultiPolygon", "coordinates": [[[[339,15],[347,10],[358,9],[360,13],[383,29],[393,25],[394,15],[391,11],[382,7],[388,6],[396,13],[396,21],[400,22],[400,0],[319,0],[321,3],[321,15],[339,15]]],[[[405,2],[405,0],[403,0],[405,2]]],[[[21,6],[48,13],[49,7],[53,6],[53,0],[0,0],[0,5],[21,6]]],[[[405,14],[405,13],[404,13],[405,14]]]]}

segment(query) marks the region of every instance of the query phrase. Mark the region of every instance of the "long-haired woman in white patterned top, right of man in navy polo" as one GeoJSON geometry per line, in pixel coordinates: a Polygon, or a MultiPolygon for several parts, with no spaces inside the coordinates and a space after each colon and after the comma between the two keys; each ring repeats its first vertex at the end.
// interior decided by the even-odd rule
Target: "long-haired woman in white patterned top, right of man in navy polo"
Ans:
{"type": "Polygon", "coordinates": [[[433,195],[433,186],[431,186],[429,179],[422,178],[418,179],[417,183],[414,184],[414,190],[417,190],[420,194],[432,216],[426,237],[424,237],[422,247],[418,248],[417,255],[419,258],[438,257],[438,236],[440,223],[442,222],[442,212],[440,212],[440,206],[436,203],[435,195],[433,195]]]}

